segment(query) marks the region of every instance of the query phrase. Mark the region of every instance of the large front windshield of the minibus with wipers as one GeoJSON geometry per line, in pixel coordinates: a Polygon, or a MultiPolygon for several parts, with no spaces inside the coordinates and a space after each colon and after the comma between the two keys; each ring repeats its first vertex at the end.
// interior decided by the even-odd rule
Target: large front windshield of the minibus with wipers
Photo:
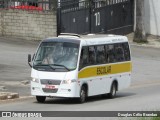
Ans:
{"type": "Polygon", "coordinates": [[[39,71],[71,71],[77,68],[79,44],[42,42],[33,61],[39,71]]]}

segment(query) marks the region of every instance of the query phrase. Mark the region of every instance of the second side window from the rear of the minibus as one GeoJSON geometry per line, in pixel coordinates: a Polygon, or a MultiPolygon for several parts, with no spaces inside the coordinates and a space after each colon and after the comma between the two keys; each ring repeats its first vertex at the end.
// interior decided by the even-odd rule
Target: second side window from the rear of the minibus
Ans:
{"type": "Polygon", "coordinates": [[[116,62],[125,61],[124,50],[121,43],[115,44],[115,57],[116,57],[116,62]]]}

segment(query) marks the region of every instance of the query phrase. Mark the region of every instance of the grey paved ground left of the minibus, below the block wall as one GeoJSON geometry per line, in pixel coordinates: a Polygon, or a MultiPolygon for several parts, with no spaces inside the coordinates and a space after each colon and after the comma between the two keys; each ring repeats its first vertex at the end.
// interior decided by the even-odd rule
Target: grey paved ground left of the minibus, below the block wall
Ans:
{"type": "Polygon", "coordinates": [[[20,95],[30,95],[25,83],[30,80],[27,55],[33,54],[39,42],[0,38],[0,86],[20,95]]]}

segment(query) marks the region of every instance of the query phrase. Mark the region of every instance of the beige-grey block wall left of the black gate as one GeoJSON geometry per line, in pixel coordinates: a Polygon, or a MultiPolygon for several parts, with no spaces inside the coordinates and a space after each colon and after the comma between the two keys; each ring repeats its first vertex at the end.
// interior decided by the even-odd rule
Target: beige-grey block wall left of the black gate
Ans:
{"type": "Polygon", "coordinates": [[[0,36],[41,40],[56,36],[56,31],[53,12],[0,10],[0,36]]]}

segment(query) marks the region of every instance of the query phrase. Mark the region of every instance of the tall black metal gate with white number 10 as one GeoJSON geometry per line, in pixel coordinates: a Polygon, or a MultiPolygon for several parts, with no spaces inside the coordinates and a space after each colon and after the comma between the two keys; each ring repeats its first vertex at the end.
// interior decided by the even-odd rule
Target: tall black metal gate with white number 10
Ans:
{"type": "Polygon", "coordinates": [[[58,5],[58,34],[133,31],[133,0],[61,0],[58,5]]]}

